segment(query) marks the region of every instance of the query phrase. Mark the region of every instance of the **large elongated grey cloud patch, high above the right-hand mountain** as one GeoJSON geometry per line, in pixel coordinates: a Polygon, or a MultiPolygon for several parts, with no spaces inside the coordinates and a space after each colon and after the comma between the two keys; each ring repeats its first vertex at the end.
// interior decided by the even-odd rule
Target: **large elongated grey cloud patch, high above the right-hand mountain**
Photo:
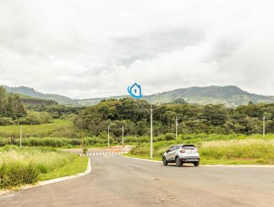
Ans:
{"type": "Polygon", "coordinates": [[[163,28],[157,32],[114,39],[114,57],[119,64],[128,66],[136,60],[149,60],[160,53],[182,50],[197,45],[204,38],[199,28],[163,28]]]}

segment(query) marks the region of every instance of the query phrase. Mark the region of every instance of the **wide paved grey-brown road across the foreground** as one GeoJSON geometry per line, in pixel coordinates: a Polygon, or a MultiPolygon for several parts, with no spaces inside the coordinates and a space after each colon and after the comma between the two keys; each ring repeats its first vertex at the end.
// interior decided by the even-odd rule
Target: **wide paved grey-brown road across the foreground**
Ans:
{"type": "Polygon", "coordinates": [[[274,169],[164,167],[91,154],[88,175],[0,197],[0,206],[274,206],[274,169]]]}

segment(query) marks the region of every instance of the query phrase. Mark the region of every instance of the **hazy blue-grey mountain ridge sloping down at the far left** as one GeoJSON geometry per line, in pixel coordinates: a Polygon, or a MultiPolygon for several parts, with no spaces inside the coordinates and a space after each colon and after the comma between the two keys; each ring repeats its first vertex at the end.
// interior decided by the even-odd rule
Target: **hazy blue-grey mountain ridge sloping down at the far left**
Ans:
{"type": "Polygon", "coordinates": [[[54,101],[57,101],[58,103],[63,103],[63,104],[76,104],[77,103],[77,101],[70,99],[69,97],[65,97],[62,95],[55,95],[55,94],[40,93],[40,92],[34,90],[34,88],[29,88],[29,87],[25,87],[25,86],[20,86],[20,87],[3,86],[3,87],[10,93],[23,94],[23,95],[27,95],[29,97],[35,97],[38,99],[54,100],[54,101]]]}

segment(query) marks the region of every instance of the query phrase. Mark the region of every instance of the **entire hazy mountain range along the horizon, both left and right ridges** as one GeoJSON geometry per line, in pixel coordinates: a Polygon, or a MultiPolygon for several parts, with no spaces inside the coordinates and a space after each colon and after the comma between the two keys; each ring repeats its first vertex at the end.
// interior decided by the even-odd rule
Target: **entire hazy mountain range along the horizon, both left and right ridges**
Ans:
{"type": "MultiPolygon", "coordinates": [[[[11,93],[19,93],[29,97],[39,99],[50,99],[62,104],[77,104],[82,106],[90,106],[99,103],[102,99],[121,99],[128,96],[101,97],[94,99],[70,99],[62,95],[40,93],[34,88],[8,87],[4,86],[11,93]]],[[[217,104],[223,103],[225,106],[240,106],[247,104],[249,101],[253,103],[273,103],[273,96],[256,95],[248,93],[237,86],[207,86],[207,87],[190,87],[170,90],[164,93],[143,96],[142,99],[149,103],[169,103],[174,99],[182,98],[188,103],[199,104],[217,104]]]]}

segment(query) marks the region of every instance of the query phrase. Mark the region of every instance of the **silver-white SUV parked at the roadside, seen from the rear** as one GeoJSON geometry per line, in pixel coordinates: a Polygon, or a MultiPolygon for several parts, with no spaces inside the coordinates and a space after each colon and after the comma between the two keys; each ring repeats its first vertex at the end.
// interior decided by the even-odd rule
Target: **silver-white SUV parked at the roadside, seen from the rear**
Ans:
{"type": "Polygon", "coordinates": [[[200,155],[195,145],[174,145],[170,147],[162,156],[164,166],[169,163],[176,163],[177,167],[182,167],[184,163],[193,163],[199,166],[200,155]]]}

